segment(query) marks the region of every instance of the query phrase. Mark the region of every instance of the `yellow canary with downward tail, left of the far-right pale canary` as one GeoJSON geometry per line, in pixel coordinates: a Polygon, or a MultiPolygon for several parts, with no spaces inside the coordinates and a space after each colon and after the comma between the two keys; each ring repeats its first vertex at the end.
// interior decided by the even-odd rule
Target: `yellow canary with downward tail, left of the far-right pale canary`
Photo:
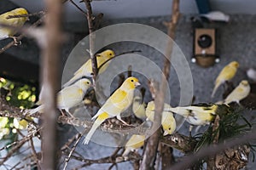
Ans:
{"type": "Polygon", "coordinates": [[[215,81],[215,86],[212,91],[212,97],[214,96],[218,87],[226,81],[230,81],[236,75],[237,68],[239,63],[237,61],[232,61],[229,65],[224,66],[222,71],[218,74],[218,77],[215,81]]]}

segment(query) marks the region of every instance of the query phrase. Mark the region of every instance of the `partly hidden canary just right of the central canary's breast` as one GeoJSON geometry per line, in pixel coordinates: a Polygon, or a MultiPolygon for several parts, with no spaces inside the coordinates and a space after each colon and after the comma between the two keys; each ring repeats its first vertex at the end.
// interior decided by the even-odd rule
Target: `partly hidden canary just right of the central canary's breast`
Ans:
{"type": "Polygon", "coordinates": [[[132,102],[132,111],[137,118],[145,120],[146,116],[146,105],[143,103],[140,96],[135,96],[132,102]]]}

